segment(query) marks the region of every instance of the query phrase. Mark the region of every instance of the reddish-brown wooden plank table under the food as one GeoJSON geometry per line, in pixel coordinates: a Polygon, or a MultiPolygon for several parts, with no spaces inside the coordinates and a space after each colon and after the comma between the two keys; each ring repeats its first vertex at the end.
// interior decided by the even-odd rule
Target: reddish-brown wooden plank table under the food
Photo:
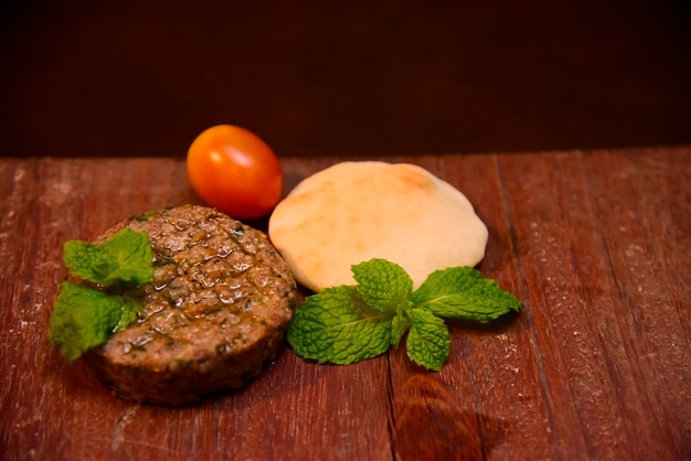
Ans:
{"type": "MultiPolygon", "coordinates": [[[[343,159],[283,159],[288,187],[343,159]]],[[[351,366],[286,349],[249,387],[120,400],[46,340],[62,244],[199,202],[174,159],[0,160],[0,453],[51,460],[676,460],[691,455],[691,147],[387,158],[464,191],[479,269],[524,301],[351,366]]],[[[261,223],[259,223],[261,225],[261,223]]]]}

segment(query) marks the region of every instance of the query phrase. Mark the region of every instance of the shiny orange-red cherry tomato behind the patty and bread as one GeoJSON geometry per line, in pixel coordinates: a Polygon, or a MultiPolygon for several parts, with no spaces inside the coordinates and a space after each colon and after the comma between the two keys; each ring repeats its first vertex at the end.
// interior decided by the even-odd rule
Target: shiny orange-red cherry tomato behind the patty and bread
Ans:
{"type": "Polygon", "coordinates": [[[241,127],[217,125],[199,135],[188,151],[187,168],[199,196],[235,218],[268,214],[283,193],[276,154],[241,127]]]}

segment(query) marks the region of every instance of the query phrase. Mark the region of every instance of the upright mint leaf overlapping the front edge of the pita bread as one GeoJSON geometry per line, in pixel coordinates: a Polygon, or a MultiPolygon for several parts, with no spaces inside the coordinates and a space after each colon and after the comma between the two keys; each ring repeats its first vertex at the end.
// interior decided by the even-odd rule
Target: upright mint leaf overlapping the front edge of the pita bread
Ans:
{"type": "Polygon", "coordinates": [[[396,312],[408,303],[413,279],[397,264],[385,259],[371,259],[352,266],[358,291],[365,302],[380,312],[396,312]]]}

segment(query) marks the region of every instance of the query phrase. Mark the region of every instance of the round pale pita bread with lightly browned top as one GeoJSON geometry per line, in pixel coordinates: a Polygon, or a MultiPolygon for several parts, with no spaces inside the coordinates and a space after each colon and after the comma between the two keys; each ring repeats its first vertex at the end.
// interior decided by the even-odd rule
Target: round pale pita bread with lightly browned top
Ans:
{"type": "Polygon", "coordinates": [[[384,258],[417,288],[429,274],[476,266],[488,232],[454,186],[421,167],[343,162],[300,182],[274,210],[274,246],[295,278],[319,292],[352,285],[351,266],[384,258]]]}

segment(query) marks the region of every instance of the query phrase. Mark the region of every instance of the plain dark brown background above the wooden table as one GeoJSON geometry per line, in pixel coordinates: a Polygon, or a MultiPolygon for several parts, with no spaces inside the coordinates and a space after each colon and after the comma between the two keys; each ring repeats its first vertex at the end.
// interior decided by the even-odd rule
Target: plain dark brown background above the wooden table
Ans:
{"type": "MultiPolygon", "coordinates": [[[[6,1],[0,154],[691,143],[682,1],[6,1]]],[[[691,3],[691,2],[689,2],[691,3]]]]}

